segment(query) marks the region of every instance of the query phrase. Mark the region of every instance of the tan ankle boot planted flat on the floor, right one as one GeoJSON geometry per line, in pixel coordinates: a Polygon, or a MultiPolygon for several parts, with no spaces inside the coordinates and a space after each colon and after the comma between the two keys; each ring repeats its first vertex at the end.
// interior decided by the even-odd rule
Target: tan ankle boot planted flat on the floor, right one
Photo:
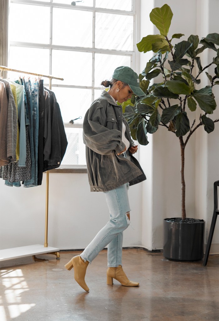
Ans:
{"type": "Polygon", "coordinates": [[[119,265],[118,267],[108,267],[108,270],[106,272],[107,276],[107,282],[106,284],[112,285],[113,279],[119,281],[124,286],[138,286],[138,282],[130,281],[127,276],[125,275],[125,272],[122,270],[122,265],[119,265]]]}

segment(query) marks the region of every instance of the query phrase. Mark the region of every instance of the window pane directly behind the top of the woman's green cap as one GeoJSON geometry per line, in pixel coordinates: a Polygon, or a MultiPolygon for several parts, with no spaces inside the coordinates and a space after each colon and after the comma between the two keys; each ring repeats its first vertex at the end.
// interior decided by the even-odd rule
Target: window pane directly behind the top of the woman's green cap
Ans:
{"type": "Polygon", "coordinates": [[[131,67],[130,56],[95,54],[95,87],[101,86],[103,80],[111,80],[115,68],[131,67]]]}

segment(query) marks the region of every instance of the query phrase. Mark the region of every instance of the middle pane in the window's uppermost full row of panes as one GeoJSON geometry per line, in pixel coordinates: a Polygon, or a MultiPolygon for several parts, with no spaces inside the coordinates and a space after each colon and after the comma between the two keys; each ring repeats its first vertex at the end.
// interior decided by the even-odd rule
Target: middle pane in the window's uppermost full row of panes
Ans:
{"type": "Polygon", "coordinates": [[[53,44],[92,47],[92,19],[92,12],[54,8],[53,44]]]}

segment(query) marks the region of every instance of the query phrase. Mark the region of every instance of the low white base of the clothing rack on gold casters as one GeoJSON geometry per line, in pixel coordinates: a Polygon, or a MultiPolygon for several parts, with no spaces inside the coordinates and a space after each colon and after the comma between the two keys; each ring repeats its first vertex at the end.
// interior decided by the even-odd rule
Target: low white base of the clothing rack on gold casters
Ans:
{"type": "Polygon", "coordinates": [[[55,247],[44,247],[40,244],[21,246],[21,247],[13,247],[6,248],[4,250],[0,250],[0,261],[6,261],[10,259],[15,259],[23,256],[35,256],[37,254],[51,253],[55,254],[56,258],[60,258],[58,248],[55,247]]]}

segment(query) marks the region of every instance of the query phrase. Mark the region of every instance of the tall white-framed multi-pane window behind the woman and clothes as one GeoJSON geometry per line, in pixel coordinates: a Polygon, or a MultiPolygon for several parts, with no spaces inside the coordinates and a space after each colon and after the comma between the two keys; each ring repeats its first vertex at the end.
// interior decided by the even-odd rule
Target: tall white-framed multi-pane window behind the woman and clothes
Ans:
{"type": "Polygon", "coordinates": [[[52,81],[68,139],[62,167],[86,164],[84,114],[116,67],[135,65],[135,30],[136,0],[11,0],[8,65],[64,78],[52,81]]]}

